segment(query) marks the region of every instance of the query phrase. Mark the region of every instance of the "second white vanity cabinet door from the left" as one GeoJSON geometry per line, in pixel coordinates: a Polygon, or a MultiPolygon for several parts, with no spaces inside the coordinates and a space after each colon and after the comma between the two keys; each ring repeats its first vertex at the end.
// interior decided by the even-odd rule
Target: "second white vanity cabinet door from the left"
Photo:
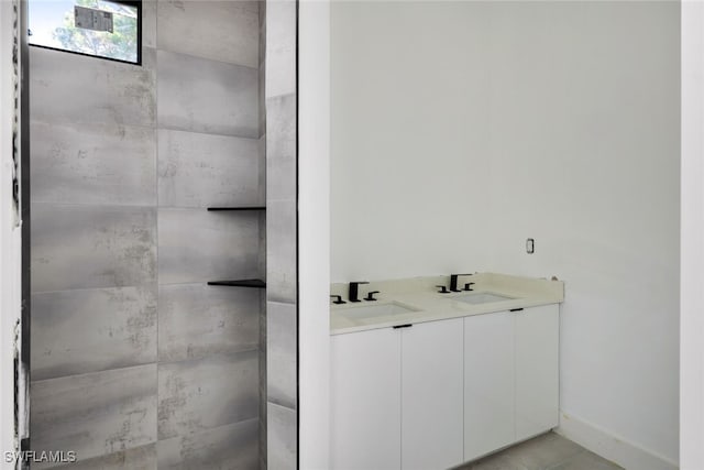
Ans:
{"type": "Polygon", "coordinates": [[[402,468],[463,461],[463,319],[416,324],[402,335],[402,468]]]}

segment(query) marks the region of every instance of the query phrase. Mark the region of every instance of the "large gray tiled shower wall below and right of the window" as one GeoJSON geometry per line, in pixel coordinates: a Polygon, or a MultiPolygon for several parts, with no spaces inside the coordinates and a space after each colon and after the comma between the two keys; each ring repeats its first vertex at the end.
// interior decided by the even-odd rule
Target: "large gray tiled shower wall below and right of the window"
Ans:
{"type": "MultiPolygon", "coordinates": [[[[142,67],[31,51],[35,450],[260,467],[257,2],[145,1],[142,67]]],[[[32,468],[46,468],[34,464],[32,468]]]]}

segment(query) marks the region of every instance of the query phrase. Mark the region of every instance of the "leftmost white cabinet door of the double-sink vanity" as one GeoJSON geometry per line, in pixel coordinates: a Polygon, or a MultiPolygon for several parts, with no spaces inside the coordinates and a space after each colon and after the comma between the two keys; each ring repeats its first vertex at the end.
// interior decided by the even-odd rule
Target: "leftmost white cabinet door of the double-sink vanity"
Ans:
{"type": "Polygon", "coordinates": [[[331,337],[331,464],[400,469],[400,330],[331,337]]]}

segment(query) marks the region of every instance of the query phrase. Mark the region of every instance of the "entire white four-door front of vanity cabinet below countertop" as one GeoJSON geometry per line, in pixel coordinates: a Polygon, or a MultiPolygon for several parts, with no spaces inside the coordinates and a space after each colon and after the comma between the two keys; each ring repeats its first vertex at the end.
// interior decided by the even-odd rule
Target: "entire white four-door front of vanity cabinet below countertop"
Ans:
{"type": "Polygon", "coordinates": [[[331,468],[447,469],[558,425],[558,304],[331,337],[331,468]]]}

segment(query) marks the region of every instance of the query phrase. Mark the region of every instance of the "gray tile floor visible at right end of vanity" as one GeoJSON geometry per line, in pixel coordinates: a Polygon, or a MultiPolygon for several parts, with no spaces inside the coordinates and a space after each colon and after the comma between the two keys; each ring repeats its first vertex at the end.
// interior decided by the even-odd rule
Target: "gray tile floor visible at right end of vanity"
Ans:
{"type": "Polygon", "coordinates": [[[554,433],[543,434],[454,470],[623,470],[554,433]]]}

